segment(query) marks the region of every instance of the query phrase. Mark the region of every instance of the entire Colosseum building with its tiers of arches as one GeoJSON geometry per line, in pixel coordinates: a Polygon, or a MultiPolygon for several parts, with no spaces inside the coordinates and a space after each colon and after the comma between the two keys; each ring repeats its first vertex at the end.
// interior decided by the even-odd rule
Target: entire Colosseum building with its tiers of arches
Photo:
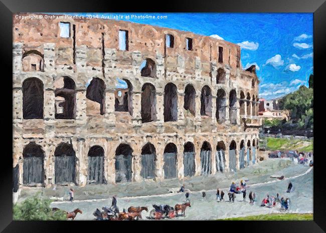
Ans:
{"type": "Polygon", "coordinates": [[[20,187],[184,179],[259,162],[259,80],[237,44],[120,20],[13,22],[20,187]]]}

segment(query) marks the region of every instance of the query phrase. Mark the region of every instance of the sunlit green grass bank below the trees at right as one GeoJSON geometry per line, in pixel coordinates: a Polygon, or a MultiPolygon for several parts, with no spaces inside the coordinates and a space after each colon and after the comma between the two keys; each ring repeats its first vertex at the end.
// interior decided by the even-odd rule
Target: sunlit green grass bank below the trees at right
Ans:
{"type": "Polygon", "coordinates": [[[312,139],[288,139],[266,137],[268,150],[299,150],[303,152],[313,151],[312,139]]]}

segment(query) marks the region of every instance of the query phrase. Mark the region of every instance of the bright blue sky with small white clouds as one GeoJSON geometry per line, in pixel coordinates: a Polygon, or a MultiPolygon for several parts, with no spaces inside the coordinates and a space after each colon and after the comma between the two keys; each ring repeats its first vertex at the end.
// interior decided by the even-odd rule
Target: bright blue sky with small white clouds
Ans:
{"type": "Polygon", "coordinates": [[[313,73],[312,13],[79,13],[86,14],[122,15],[126,21],[214,35],[237,43],[242,66],[256,64],[261,98],[272,99],[302,84],[308,86],[313,73]],[[132,15],[168,17],[137,19],[132,15]]]}

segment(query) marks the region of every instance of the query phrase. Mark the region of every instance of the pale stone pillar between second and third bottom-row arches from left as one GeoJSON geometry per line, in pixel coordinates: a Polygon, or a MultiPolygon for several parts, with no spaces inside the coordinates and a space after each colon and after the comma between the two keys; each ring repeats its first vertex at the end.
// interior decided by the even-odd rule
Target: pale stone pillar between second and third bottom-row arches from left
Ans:
{"type": "Polygon", "coordinates": [[[80,186],[85,186],[87,183],[87,151],[85,139],[72,138],[72,145],[76,153],[76,183],[80,186]],[[86,160],[86,162],[85,162],[86,160]]]}

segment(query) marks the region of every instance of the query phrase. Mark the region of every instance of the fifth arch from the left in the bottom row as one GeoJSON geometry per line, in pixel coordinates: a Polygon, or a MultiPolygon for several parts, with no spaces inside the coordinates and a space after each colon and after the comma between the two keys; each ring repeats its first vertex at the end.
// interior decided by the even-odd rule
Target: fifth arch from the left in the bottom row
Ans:
{"type": "Polygon", "coordinates": [[[146,143],[141,149],[141,176],[152,179],[156,176],[156,150],[153,144],[146,143]]]}

